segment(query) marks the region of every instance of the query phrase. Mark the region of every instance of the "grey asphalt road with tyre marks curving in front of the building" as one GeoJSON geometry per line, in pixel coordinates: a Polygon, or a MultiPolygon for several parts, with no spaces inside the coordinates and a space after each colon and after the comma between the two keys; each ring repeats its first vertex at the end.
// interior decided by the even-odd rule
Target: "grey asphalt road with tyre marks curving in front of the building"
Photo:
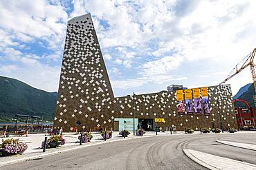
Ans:
{"type": "Polygon", "coordinates": [[[205,169],[186,157],[183,149],[256,164],[255,151],[223,145],[215,140],[256,144],[255,134],[157,136],[104,143],[0,169],[205,169]]]}

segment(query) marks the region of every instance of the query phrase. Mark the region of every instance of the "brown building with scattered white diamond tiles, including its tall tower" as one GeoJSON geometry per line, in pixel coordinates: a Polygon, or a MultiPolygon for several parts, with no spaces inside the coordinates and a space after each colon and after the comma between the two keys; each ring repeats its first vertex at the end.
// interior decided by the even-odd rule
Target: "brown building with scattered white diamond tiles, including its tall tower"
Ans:
{"type": "Polygon", "coordinates": [[[54,125],[131,131],[139,123],[146,130],[237,128],[230,85],[115,97],[91,15],[68,21],[54,125]]]}

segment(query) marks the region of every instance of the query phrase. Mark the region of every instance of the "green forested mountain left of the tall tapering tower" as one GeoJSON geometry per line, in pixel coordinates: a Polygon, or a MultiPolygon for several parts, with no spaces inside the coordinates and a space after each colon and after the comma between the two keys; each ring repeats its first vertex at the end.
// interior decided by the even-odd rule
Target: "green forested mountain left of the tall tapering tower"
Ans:
{"type": "Polygon", "coordinates": [[[0,121],[15,114],[44,116],[53,120],[57,92],[45,92],[13,78],[0,76],[0,121]]]}

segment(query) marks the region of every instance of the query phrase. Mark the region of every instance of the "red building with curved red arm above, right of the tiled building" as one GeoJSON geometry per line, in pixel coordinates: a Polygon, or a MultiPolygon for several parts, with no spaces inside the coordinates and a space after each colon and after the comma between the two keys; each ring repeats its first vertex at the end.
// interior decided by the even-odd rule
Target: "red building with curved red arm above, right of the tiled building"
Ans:
{"type": "Polygon", "coordinates": [[[240,99],[233,100],[233,103],[235,103],[236,101],[240,101],[247,106],[247,108],[235,107],[237,126],[239,127],[239,129],[241,129],[241,128],[255,129],[255,127],[256,127],[256,124],[255,124],[255,122],[256,122],[256,113],[255,113],[256,107],[250,107],[250,105],[248,105],[248,103],[246,103],[245,100],[240,100],[240,99]]]}

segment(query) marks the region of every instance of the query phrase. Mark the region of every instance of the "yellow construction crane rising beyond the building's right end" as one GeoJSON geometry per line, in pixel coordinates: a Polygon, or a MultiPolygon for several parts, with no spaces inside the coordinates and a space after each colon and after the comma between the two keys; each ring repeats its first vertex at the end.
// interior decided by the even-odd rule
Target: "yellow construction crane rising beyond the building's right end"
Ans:
{"type": "Polygon", "coordinates": [[[256,107],[256,74],[255,74],[255,64],[253,63],[254,56],[255,56],[256,48],[253,50],[253,52],[250,52],[242,61],[240,61],[235,68],[233,68],[232,72],[228,75],[228,78],[226,78],[224,81],[222,81],[219,85],[222,85],[223,83],[226,83],[226,81],[230,80],[233,76],[239,74],[242,70],[244,70],[246,67],[250,66],[250,73],[253,77],[253,85],[254,85],[254,105],[256,107]],[[240,66],[239,64],[242,63],[240,66]]]}

